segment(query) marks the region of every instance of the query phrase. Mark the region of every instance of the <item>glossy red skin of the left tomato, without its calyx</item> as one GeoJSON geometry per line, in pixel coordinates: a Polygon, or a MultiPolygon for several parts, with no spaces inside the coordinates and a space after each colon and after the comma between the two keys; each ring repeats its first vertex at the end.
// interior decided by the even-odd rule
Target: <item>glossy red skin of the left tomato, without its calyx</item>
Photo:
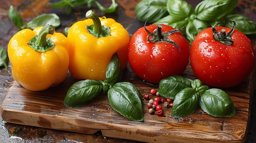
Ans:
{"type": "MultiPolygon", "coordinates": [[[[153,32],[157,25],[146,26],[153,32]]],[[[162,31],[171,31],[173,27],[162,24],[162,31]]],[[[171,34],[181,51],[171,43],[149,42],[149,34],[144,27],[138,29],[130,39],[128,61],[133,72],[149,83],[159,83],[161,79],[171,75],[181,75],[189,61],[189,45],[180,32],[171,34]]]]}

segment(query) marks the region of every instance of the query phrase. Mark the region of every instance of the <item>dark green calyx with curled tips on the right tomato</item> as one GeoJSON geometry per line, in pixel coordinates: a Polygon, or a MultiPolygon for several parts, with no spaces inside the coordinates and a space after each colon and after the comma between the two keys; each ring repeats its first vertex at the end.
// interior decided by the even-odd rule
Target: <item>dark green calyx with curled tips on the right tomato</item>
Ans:
{"type": "Polygon", "coordinates": [[[222,22],[218,22],[213,26],[213,39],[215,39],[218,42],[221,42],[224,45],[230,46],[233,45],[233,40],[231,40],[231,36],[233,34],[233,31],[235,29],[235,21],[231,20],[230,23],[233,22],[233,27],[231,28],[231,30],[226,33],[226,29],[221,29],[221,31],[217,31],[215,29],[217,24],[220,24],[222,22]]]}

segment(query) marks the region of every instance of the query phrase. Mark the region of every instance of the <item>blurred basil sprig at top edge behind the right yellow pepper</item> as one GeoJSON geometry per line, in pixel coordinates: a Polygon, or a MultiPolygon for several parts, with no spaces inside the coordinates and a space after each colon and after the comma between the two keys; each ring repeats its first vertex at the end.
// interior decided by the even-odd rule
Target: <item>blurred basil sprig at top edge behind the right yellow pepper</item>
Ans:
{"type": "Polygon", "coordinates": [[[54,8],[62,8],[62,7],[67,7],[66,13],[69,14],[71,13],[71,8],[72,7],[79,7],[82,5],[87,5],[89,8],[93,6],[93,4],[96,3],[98,6],[98,9],[105,13],[112,13],[117,10],[118,4],[115,2],[115,0],[112,0],[112,4],[110,7],[105,8],[103,7],[99,2],[96,0],[61,0],[59,2],[48,2],[48,4],[54,8]]]}

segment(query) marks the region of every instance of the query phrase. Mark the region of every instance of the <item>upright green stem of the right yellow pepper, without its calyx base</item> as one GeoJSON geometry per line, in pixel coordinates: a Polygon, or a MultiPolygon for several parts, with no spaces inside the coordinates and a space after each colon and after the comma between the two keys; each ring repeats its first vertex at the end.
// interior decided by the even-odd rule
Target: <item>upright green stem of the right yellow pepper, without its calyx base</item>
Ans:
{"type": "Polygon", "coordinates": [[[102,33],[101,20],[98,18],[96,13],[92,10],[89,10],[89,11],[87,11],[85,16],[86,16],[86,18],[89,18],[89,19],[93,20],[93,22],[94,22],[94,33],[98,34],[98,35],[101,35],[101,33],[102,33]]]}

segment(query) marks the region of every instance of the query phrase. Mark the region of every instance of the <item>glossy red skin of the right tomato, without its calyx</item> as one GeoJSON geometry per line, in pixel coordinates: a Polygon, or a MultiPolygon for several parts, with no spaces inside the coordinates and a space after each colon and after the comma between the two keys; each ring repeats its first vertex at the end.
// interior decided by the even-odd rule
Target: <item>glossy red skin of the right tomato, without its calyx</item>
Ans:
{"type": "MultiPolygon", "coordinates": [[[[217,31],[231,28],[216,27],[217,31]]],[[[251,40],[234,30],[233,45],[226,46],[213,39],[212,28],[204,29],[194,39],[190,49],[190,63],[194,74],[213,87],[233,87],[244,81],[255,65],[255,51],[251,40]]]]}

